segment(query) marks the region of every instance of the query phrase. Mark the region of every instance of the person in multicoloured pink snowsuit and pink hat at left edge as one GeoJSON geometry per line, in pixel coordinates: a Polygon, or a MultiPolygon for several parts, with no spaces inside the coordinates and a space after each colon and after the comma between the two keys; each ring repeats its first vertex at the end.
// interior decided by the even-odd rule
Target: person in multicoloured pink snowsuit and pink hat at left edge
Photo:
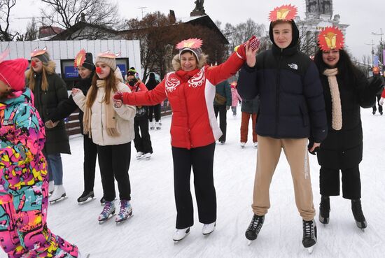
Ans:
{"type": "Polygon", "coordinates": [[[0,245],[9,258],[79,257],[47,226],[45,130],[25,88],[27,67],[27,59],[0,57],[0,245]]]}

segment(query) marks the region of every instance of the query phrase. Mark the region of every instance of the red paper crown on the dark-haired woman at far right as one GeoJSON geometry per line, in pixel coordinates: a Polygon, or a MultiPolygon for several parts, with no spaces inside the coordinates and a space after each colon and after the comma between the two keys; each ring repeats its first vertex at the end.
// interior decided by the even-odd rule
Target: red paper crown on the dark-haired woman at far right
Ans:
{"type": "Polygon", "coordinates": [[[323,51],[344,48],[344,34],[337,27],[325,27],[318,34],[318,45],[323,51]]]}

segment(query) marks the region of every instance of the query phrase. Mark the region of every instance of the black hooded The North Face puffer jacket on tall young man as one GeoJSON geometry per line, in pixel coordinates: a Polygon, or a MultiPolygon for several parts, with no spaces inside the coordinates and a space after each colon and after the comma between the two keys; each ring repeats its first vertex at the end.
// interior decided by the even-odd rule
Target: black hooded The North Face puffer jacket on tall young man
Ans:
{"type": "Polygon", "coordinates": [[[257,56],[255,67],[239,72],[242,99],[260,95],[257,134],[273,138],[311,138],[321,142],[327,134],[323,90],[314,62],[297,50],[299,32],[292,22],[293,41],[281,49],[270,24],[272,50],[257,56]]]}

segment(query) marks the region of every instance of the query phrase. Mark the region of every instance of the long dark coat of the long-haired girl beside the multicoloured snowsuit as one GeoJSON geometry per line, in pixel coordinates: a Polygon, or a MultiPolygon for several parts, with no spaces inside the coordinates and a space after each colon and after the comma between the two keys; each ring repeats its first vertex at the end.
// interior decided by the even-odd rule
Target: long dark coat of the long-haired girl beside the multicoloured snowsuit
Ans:
{"type": "MultiPolygon", "coordinates": [[[[50,120],[50,114],[56,110],[59,103],[68,99],[64,80],[55,73],[55,66],[53,64],[51,66],[48,66],[47,80],[49,86],[47,91],[41,89],[41,74],[34,73],[35,87],[32,91],[35,97],[34,104],[43,122],[50,120]]],[[[31,73],[31,71],[28,73],[31,73]]],[[[29,82],[27,82],[27,85],[28,83],[29,82]]],[[[60,120],[59,124],[52,129],[45,127],[45,145],[43,152],[45,154],[71,154],[64,120],[60,120]]]]}

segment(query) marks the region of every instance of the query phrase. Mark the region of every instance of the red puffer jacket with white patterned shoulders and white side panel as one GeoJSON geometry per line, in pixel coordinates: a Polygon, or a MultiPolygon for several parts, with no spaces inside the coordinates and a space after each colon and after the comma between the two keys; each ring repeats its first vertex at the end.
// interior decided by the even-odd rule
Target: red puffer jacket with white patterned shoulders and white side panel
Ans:
{"type": "Polygon", "coordinates": [[[154,89],[148,92],[123,94],[129,105],[156,105],[167,97],[172,108],[171,145],[176,148],[197,148],[214,143],[222,132],[214,114],[215,85],[233,76],[244,60],[232,54],[218,66],[204,66],[190,79],[167,73],[154,89]]]}

